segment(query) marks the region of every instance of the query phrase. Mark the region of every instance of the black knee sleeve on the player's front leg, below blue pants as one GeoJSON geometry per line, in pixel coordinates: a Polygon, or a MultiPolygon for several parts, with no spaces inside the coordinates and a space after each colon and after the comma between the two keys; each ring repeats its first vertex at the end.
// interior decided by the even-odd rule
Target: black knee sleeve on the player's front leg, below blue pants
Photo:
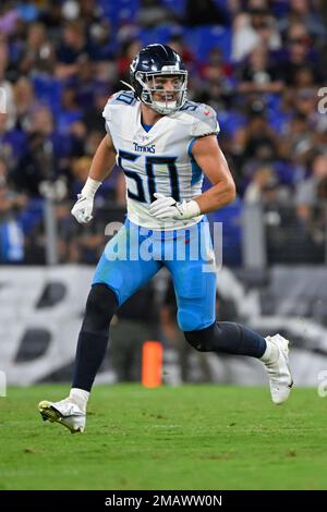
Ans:
{"type": "Polygon", "coordinates": [[[82,330],[108,334],[111,318],[117,309],[118,301],[114,292],[106,284],[94,284],[86,301],[82,330]]]}

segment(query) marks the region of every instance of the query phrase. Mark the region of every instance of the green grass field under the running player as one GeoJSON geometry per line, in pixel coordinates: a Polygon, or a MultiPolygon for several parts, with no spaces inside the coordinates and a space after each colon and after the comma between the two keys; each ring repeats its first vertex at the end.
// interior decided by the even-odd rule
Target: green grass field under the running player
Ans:
{"type": "Polygon", "coordinates": [[[97,387],[87,429],[43,422],[68,387],[0,398],[0,489],[327,489],[327,400],[295,389],[97,387]]]}

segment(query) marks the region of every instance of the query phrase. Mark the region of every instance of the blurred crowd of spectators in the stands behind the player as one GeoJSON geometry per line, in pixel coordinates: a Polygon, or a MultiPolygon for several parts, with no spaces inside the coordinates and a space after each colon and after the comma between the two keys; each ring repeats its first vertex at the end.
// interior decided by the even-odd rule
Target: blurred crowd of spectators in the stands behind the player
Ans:
{"type": "Polygon", "coordinates": [[[70,209],[105,134],[106,101],[149,42],[183,57],[189,98],[217,111],[239,192],[231,218],[263,205],[272,253],[284,222],[325,251],[326,11],[318,0],[1,0],[0,261],[45,263],[49,198],[59,260],[97,260],[106,223],[123,219],[122,173],[99,190],[88,228],[70,209]]]}

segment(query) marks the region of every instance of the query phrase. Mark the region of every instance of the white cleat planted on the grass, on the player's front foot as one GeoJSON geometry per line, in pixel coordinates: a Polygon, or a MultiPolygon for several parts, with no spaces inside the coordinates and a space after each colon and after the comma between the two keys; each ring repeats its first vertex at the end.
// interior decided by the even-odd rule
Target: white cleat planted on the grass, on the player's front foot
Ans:
{"type": "Polygon", "coordinates": [[[44,400],[38,404],[38,410],[45,422],[59,423],[72,434],[84,431],[86,414],[70,398],[60,402],[44,400]]]}

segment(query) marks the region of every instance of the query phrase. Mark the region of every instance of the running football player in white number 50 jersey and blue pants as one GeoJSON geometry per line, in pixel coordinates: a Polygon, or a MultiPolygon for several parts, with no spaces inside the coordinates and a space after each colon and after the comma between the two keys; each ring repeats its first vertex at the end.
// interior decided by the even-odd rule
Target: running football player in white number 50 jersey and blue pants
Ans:
{"type": "Polygon", "coordinates": [[[130,90],[111,96],[104,110],[107,134],[72,215],[81,223],[92,220],[94,196],[117,162],[126,180],[128,218],[108,242],[94,276],[70,395],[60,402],[43,401],[39,411],[44,419],[72,432],[84,430],[110,320],[162,266],[173,280],[178,322],[186,342],[197,351],[261,359],[272,401],[282,403],[292,386],[288,340],[280,334],[265,339],[239,324],[215,319],[216,271],[206,266],[214,256],[205,214],[235,197],[217,142],[216,113],[207,105],[187,101],[187,71],[168,46],[149,45],[141,50],[126,85],[130,90]],[[213,184],[205,193],[203,174],[213,184]]]}

